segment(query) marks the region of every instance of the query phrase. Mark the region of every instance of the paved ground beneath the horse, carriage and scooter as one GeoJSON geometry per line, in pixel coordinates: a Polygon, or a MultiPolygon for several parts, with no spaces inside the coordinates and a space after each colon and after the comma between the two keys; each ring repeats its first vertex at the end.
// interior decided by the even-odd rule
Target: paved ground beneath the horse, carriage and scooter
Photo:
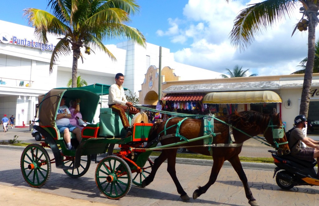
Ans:
{"type": "MultiPolygon", "coordinates": [[[[70,178],[52,164],[51,176],[40,189],[27,185],[20,170],[19,148],[0,148],[0,200],[5,205],[248,205],[242,183],[233,168],[223,167],[218,179],[206,194],[182,202],[164,163],[154,181],[146,188],[132,186],[120,200],[102,195],[95,184],[92,163],[80,178],[70,178]]],[[[52,158],[52,154],[49,153],[52,158]]],[[[198,185],[204,185],[211,166],[177,164],[177,176],[189,196],[198,185]]],[[[260,205],[318,205],[319,187],[298,186],[281,190],[272,179],[273,172],[245,169],[251,191],[260,205]]]]}

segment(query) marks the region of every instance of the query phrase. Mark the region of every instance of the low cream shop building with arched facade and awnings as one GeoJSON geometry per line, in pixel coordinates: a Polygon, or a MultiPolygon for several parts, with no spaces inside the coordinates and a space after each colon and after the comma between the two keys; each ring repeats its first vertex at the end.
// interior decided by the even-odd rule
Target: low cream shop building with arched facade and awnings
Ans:
{"type": "MultiPolygon", "coordinates": [[[[156,104],[158,100],[158,90],[156,87],[149,86],[150,70],[151,68],[145,75],[146,81],[142,84],[142,90],[139,93],[141,104],[156,104]]],[[[178,111],[176,110],[178,108],[175,107],[176,103],[191,102],[200,103],[200,106],[205,108],[206,113],[217,116],[221,113],[222,115],[229,114],[235,108],[237,111],[254,110],[263,113],[280,113],[282,121],[288,129],[293,127],[293,119],[299,115],[303,74],[183,81],[176,78],[172,69],[166,71],[168,72],[163,72],[161,100],[168,107],[170,105],[171,108],[174,107],[175,111],[178,111]],[[266,91],[271,92],[267,93],[266,91]],[[244,95],[234,96],[234,94],[238,95],[239,92],[244,95]],[[260,94],[271,94],[272,96],[267,96],[263,101],[257,100],[256,97],[252,101],[252,95],[249,96],[249,99],[245,97],[249,94],[248,92],[252,92],[256,96],[260,94]],[[208,99],[216,94],[218,96],[214,98],[217,100],[211,103],[212,101],[208,99]]],[[[185,113],[201,112],[188,111],[187,109],[180,111],[185,113]]],[[[319,135],[319,73],[313,74],[308,122],[315,128],[314,132],[308,130],[308,135],[319,135]]]]}

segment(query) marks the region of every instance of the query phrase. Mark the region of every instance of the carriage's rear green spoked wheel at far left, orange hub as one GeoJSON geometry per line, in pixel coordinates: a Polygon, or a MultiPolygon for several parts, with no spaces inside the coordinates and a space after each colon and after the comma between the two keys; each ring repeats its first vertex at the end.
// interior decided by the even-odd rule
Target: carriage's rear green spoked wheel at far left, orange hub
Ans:
{"type": "Polygon", "coordinates": [[[26,183],[31,187],[42,187],[51,174],[51,162],[47,150],[39,144],[26,146],[21,155],[20,167],[26,183]]]}

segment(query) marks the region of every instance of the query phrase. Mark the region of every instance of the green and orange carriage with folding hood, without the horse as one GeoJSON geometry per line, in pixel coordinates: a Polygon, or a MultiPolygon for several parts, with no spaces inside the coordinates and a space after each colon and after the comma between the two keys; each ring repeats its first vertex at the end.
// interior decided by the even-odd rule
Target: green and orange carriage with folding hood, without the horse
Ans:
{"type": "MultiPolygon", "coordinates": [[[[62,169],[72,178],[83,176],[91,164],[91,156],[107,154],[98,162],[95,171],[95,181],[100,191],[110,199],[119,199],[126,195],[132,184],[141,187],[147,170],[152,166],[149,158],[152,150],[146,151],[144,142],[152,127],[148,123],[147,115],[139,113],[128,115],[133,135],[125,137],[125,130],[119,116],[111,108],[100,108],[99,122],[87,124],[82,129],[82,141],[76,141],[75,134],[70,133],[72,145],[76,150],[69,150],[63,140],[63,134],[57,129],[55,119],[61,97],[65,97],[66,105],[71,99],[80,98],[80,112],[83,119],[93,122],[94,115],[100,104],[100,95],[108,95],[109,85],[94,84],[81,88],[55,88],[45,95],[39,96],[37,114],[39,131],[44,142],[28,145],[21,156],[21,171],[24,179],[31,187],[40,188],[49,179],[51,164],[62,169]],[[114,153],[115,144],[121,150],[114,153]],[[132,152],[130,148],[141,148],[139,152],[132,152]],[[51,159],[47,149],[51,149],[54,158],[51,159]]],[[[149,148],[156,146],[150,145],[149,148]]],[[[97,161],[96,161],[97,162],[97,161]]]]}

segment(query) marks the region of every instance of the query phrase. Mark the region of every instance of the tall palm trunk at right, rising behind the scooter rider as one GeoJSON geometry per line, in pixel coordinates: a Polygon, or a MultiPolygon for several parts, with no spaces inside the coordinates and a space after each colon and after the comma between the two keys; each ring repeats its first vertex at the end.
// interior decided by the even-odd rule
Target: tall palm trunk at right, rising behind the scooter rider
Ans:
{"type": "MultiPolygon", "coordinates": [[[[318,11],[318,9],[316,9],[318,11]]],[[[309,111],[309,100],[310,100],[310,89],[312,81],[312,73],[314,69],[315,61],[315,26],[316,21],[313,18],[309,18],[309,29],[308,29],[308,60],[305,69],[305,76],[303,80],[302,93],[301,93],[301,102],[300,102],[300,111],[299,114],[305,115],[308,117],[309,111]]]]}

